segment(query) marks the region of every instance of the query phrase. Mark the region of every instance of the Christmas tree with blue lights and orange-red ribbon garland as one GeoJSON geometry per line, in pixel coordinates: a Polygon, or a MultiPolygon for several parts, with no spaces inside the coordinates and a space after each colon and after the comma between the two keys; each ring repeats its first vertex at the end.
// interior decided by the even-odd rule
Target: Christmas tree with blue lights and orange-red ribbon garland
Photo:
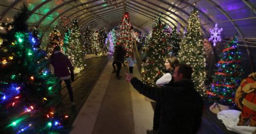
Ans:
{"type": "Polygon", "coordinates": [[[213,83],[207,94],[223,105],[234,104],[235,91],[241,82],[241,52],[238,51],[236,37],[223,49],[217,70],[213,75],[213,83]]]}

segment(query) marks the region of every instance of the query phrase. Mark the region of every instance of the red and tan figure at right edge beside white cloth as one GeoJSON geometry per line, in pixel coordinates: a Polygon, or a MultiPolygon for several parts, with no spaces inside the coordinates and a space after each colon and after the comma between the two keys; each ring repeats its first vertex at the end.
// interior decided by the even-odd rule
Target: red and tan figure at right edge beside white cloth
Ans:
{"type": "Polygon", "coordinates": [[[250,120],[250,126],[256,127],[256,72],[241,82],[236,90],[235,104],[242,110],[237,125],[250,120]]]}

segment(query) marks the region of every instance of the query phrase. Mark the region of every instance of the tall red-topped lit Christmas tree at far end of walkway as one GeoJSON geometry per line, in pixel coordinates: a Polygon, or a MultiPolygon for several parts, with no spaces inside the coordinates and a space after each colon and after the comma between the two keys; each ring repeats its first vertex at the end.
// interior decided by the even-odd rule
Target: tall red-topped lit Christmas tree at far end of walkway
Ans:
{"type": "Polygon", "coordinates": [[[129,13],[125,12],[121,26],[119,28],[119,36],[118,36],[118,43],[124,44],[124,49],[126,51],[126,55],[132,53],[132,34],[131,34],[132,25],[130,23],[129,13]]]}

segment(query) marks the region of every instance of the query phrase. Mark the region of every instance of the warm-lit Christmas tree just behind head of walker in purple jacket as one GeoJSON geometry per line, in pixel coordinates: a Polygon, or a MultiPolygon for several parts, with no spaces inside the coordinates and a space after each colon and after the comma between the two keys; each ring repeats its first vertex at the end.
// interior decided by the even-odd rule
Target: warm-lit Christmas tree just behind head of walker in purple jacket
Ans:
{"type": "Polygon", "coordinates": [[[62,45],[62,39],[61,39],[61,34],[60,31],[57,29],[53,29],[52,32],[49,35],[49,44],[46,47],[46,51],[48,54],[48,57],[51,56],[52,52],[53,52],[53,48],[55,46],[61,46],[62,45]]]}

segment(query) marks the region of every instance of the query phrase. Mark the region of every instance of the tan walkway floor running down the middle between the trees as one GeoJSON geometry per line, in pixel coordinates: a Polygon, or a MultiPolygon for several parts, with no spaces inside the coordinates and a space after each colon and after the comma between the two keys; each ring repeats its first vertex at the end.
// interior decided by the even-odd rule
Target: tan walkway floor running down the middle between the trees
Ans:
{"type": "MultiPolygon", "coordinates": [[[[112,61],[105,66],[89,98],[79,111],[71,133],[146,133],[153,125],[153,107],[130,83],[125,81],[127,66],[121,69],[121,80],[111,73],[112,61]]],[[[137,66],[134,76],[140,78],[137,66]]]]}

